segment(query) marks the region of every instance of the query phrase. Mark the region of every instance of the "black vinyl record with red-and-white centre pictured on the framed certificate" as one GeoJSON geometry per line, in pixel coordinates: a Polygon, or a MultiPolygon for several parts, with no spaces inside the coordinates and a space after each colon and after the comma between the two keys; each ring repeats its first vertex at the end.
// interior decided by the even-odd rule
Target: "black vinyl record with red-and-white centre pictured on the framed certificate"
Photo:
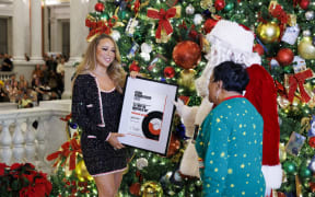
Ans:
{"type": "Polygon", "coordinates": [[[162,127],[163,113],[150,112],[142,120],[142,131],[149,139],[159,140],[162,127]]]}

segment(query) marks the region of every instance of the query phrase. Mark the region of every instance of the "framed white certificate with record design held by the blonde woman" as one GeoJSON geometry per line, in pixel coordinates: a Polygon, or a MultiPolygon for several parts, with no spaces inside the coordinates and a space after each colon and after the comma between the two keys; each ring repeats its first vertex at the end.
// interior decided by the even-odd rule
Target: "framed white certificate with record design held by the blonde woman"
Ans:
{"type": "Polygon", "coordinates": [[[122,144],[166,155],[178,86],[128,77],[118,127],[122,144]]]}

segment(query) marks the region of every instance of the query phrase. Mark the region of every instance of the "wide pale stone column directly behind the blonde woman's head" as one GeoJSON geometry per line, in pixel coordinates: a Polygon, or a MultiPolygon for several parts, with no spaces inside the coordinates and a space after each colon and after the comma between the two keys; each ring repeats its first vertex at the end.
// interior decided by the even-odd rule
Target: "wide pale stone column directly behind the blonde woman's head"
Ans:
{"type": "Polygon", "coordinates": [[[65,66],[65,92],[62,99],[71,97],[71,77],[75,71],[73,65],[80,62],[85,53],[88,42],[85,40],[89,28],[85,26],[85,18],[92,12],[97,0],[78,1],[70,0],[70,59],[65,66]],[[93,5],[91,5],[93,4],[93,5]]]}

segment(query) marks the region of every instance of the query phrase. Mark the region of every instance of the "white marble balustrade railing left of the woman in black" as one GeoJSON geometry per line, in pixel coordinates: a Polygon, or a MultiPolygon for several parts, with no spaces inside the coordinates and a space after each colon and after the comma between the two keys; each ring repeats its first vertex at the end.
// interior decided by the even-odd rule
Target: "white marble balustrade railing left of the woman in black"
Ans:
{"type": "Polygon", "coordinates": [[[0,111],[0,162],[31,162],[47,171],[46,157],[67,141],[67,123],[71,101],[47,101],[33,108],[0,111]]]}

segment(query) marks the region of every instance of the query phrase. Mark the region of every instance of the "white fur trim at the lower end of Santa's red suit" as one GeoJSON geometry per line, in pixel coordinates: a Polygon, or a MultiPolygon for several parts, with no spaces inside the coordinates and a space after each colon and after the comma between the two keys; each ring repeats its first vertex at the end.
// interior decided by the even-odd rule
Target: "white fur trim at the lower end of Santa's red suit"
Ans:
{"type": "Polygon", "coordinates": [[[282,184],[282,167],[281,164],[278,165],[262,165],[261,167],[265,182],[266,182],[266,193],[265,196],[270,196],[271,189],[278,189],[282,184]]]}

